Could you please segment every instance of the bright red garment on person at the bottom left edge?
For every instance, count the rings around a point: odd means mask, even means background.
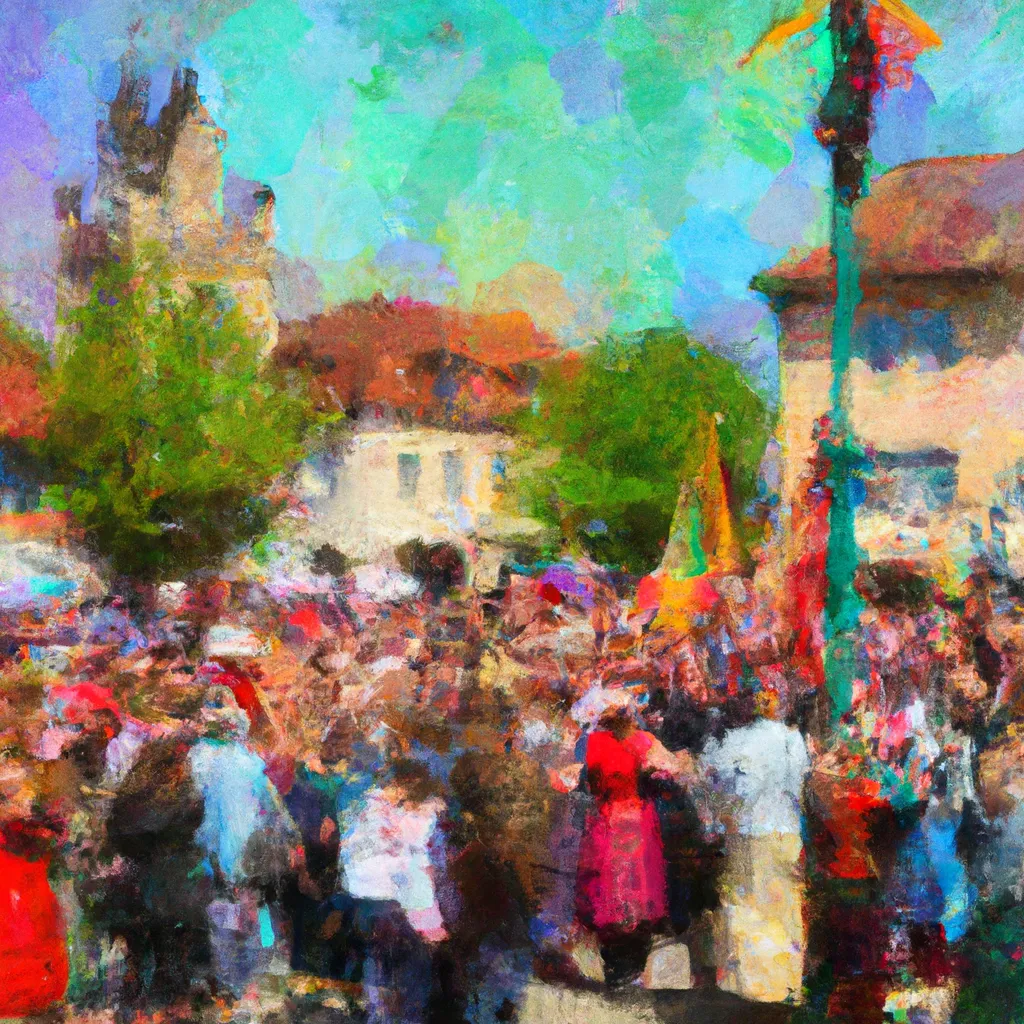
[[[63,997],[68,950],[46,871],[49,830],[0,827],[0,1018],[40,1014]]]

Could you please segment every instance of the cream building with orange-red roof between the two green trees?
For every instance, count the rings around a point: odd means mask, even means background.
[[[283,325],[274,357],[312,371],[319,402],[353,427],[301,475],[314,540],[374,558],[417,538],[481,551],[536,539],[539,524],[502,499],[513,447],[502,424],[556,352],[525,313],[379,295]]]

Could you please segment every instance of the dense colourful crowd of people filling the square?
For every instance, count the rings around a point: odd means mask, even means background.
[[[437,564],[8,622],[0,1017],[305,979],[356,1019],[504,1021],[532,979],[827,976],[866,1021],[962,980],[977,900],[1022,886],[1004,583],[862,573],[840,716],[751,581],[684,630],[580,559],[486,593]]]

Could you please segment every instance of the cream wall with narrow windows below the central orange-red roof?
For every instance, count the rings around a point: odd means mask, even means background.
[[[314,514],[311,539],[354,558],[373,558],[414,538],[501,540],[506,531],[536,530],[536,523],[506,518],[500,509],[495,460],[512,443],[499,433],[359,433],[336,466],[309,467],[300,477]],[[418,474],[412,472],[415,460]]]

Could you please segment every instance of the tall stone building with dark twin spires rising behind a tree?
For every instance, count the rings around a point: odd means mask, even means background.
[[[96,127],[96,182],[88,209],[80,185],[54,197],[61,223],[58,308],[88,298],[97,262],[113,251],[156,242],[182,282],[229,288],[269,349],[278,339],[270,283],[273,193],[233,175],[225,179],[226,134],[198,87],[194,70],[177,69],[167,102],[155,121],[147,120],[150,78],[131,52],[125,57],[118,94]],[[58,335],[57,341],[59,349],[68,338]]]

